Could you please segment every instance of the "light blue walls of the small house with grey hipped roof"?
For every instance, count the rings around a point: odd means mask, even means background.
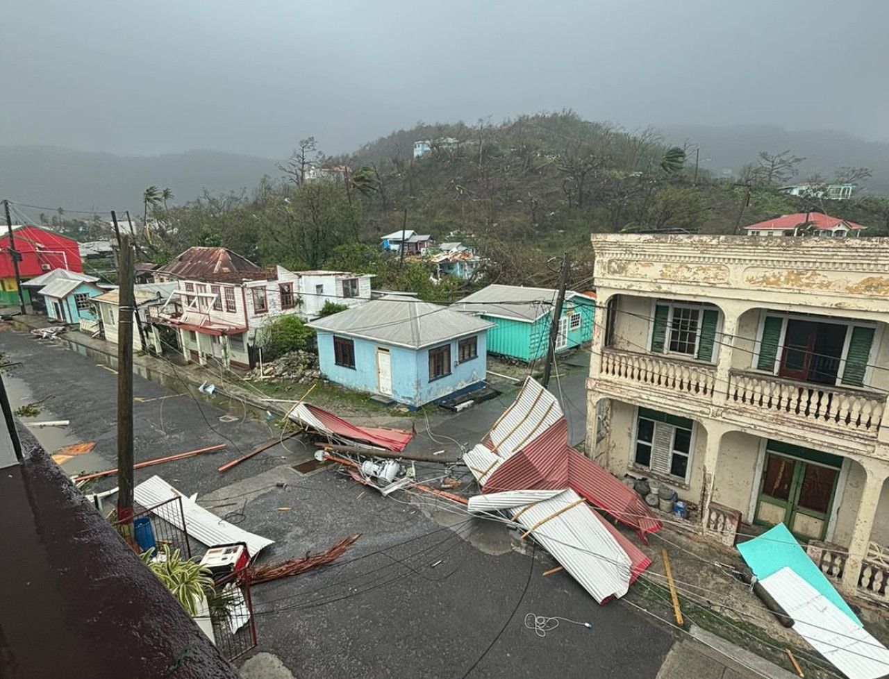
[[[380,393],[377,390],[377,348],[388,349],[392,363],[392,399],[413,407],[444,398],[485,379],[487,353],[484,332],[477,336],[477,358],[465,363],[458,364],[458,339],[453,339],[451,374],[432,381],[429,381],[428,348],[414,350],[352,338],[355,342],[355,368],[352,369],[334,363],[331,332],[318,332],[317,335],[318,364],[324,377],[343,387],[368,394]],[[339,336],[348,337],[345,334]]]

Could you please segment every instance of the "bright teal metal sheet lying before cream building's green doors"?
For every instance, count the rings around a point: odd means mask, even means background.
[[[768,578],[785,566],[789,566],[800,578],[849,616],[858,627],[862,627],[861,620],[855,616],[849,604],[845,603],[843,597],[809,558],[803,547],[799,546],[797,539],[783,523],[765,531],[758,538],[742,542],[738,545],[738,551],[757,579]]]

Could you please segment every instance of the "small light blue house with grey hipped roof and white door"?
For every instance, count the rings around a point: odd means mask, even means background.
[[[308,324],[332,382],[412,408],[481,387],[493,324],[412,297],[386,295]]]

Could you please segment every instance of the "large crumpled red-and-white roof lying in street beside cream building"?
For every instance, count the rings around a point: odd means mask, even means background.
[[[661,523],[635,491],[568,445],[556,397],[525,379],[489,435],[463,456],[482,487],[469,510],[509,512],[598,603],[626,594],[651,559],[586,503],[642,538]]]

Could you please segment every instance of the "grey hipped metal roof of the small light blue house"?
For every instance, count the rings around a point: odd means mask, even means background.
[[[386,295],[308,324],[323,332],[372,339],[399,347],[429,347],[483,332],[493,324],[430,302]]]

